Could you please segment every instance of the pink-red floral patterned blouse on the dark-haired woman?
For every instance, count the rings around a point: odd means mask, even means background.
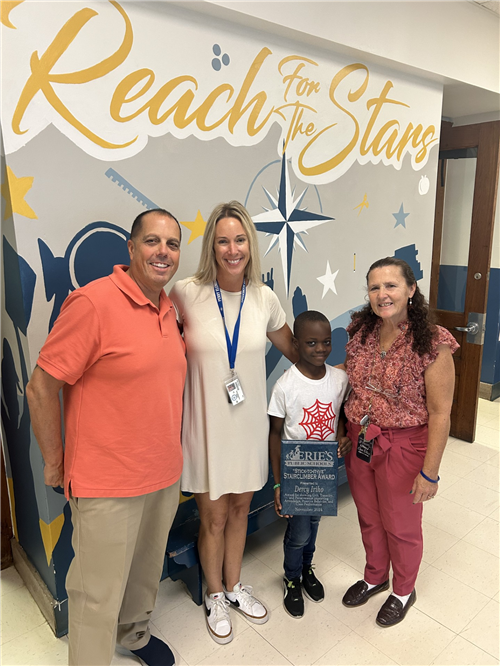
[[[401,335],[382,357],[381,323],[377,322],[365,344],[361,343],[361,330],[347,343],[345,365],[352,391],[345,406],[346,416],[351,423],[360,423],[370,413],[370,422],[381,428],[423,425],[429,417],[424,372],[436,360],[438,345],[448,345],[453,354],[459,344],[449,331],[436,326],[432,350],[419,356],[412,350],[412,336],[405,334],[408,322],[404,321],[399,324]]]

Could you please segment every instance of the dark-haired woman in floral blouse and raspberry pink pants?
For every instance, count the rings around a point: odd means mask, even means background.
[[[364,579],[342,603],[361,606],[389,588],[377,624],[401,622],[416,600],[422,559],[422,505],[436,496],[450,429],[455,338],[429,322],[405,261],[387,257],[367,275],[369,303],[352,315],[345,406],[353,443],[346,457],[366,551]]]

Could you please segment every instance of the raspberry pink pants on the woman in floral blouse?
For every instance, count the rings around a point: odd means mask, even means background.
[[[422,504],[413,504],[410,491],[422,469],[427,426],[382,430],[370,426],[374,434],[380,431],[370,463],[356,456],[360,429],[347,424],[352,451],[345,465],[366,551],[364,579],[371,585],[383,583],[392,564],[393,591],[403,596],[415,587],[422,560]]]

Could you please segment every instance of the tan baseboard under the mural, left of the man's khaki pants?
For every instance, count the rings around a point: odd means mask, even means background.
[[[35,603],[54,634],[58,638],[64,636],[68,631],[67,601],[60,604],[54,599],[49,588],[45,585],[40,574],[31,564],[28,556],[16,539],[11,540],[11,545],[14,566],[23,579],[29,593],[35,600]]]

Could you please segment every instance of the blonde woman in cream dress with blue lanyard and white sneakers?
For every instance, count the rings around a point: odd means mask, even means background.
[[[188,359],[181,487],[194,493],[200,512],[207,629],[224,644],[233,638],[230,606],[251,622],[268,620],[240,581],[250,502],[269,470],[267,340],[297,360],[283,308],[261,281],[255,226],[239,202],[212,211],[198,271],[177,282],[170,298]]]

